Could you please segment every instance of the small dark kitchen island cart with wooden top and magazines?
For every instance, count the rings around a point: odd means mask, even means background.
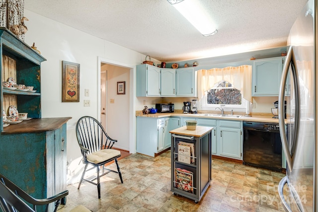
[[[198,203],[212,180],[211,127],[171,133],[171,191]]]

